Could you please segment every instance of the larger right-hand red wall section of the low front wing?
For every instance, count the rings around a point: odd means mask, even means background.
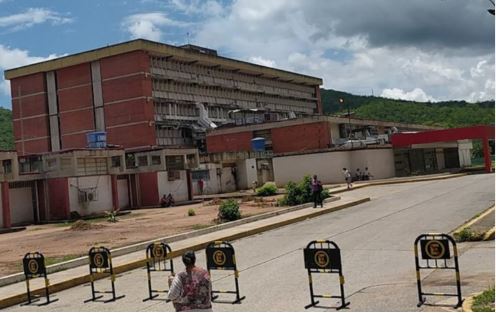
[[[274,153],[325,149],[331,140],[327,122],[273,128],[271,134]]]

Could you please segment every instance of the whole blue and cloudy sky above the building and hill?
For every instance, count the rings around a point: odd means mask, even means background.
[[[135,38],[416,101],[495,98],[487,0],[0,0],[0,72]],[[0,106],[10,108],[0,77]]]

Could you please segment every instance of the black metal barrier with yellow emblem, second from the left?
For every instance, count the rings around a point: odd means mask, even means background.
[[[88,252],[88,257],[90,261],[90,283],[91,283],[91,299],[85,300],[84,303],[89,301],[96,301],[103,297],[96,296],[96,294],[105,294],[111,293],[112,298],[103,301],[104,303],[112,302],[121,298],[124,298],[125,295],[116,297],[115,295],[115,274],[114,268],[112,267],[112,256],[110,254],[110,250],[105,247],[93,247]],[[96,291],[95,290],[95,275],[98,273],[110,274],[110,282],[112,290],[109,291]]]

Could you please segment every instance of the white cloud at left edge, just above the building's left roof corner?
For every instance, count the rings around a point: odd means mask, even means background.
[[[15,48],[12,49],[0,44],[0,70],[3,72],[3,70],[42,62],[61,56],[63,55],[50,54],[47,57],[30,56],[29,51]],[[0,77],[0,92],[10,96],[10,82],[4,80],[3,75]]]

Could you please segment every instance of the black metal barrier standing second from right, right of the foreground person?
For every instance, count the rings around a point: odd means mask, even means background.
[[[308,270],[308,283],[310,286],[311,301],[310,304],[305,306],[305,309],[319,303],[319,301],[315,301],[315,298],[341,299],[341,305],[336,309],[339,310],[347,307],[350,303],[346,302],[344,295],[344,276],[341,266],[341,251],[338,245],[329,240],[314,240],[311,241],[303,250],[303,255],[305,257],[305,268]],[[325,294],[314,294],[312,273],[339,274],[339,288],[341,295],[332,296]]]

